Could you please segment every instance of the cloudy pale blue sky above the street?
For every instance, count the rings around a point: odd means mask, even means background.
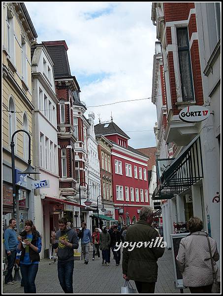
[[[81,101],[97,106],[151,98],[156,27],[152,2],[24,2],[37,42],[65,40]],[[98,123],[111,119],[133,148],[156,146],[156,107],[149,100],[89,107]]]

